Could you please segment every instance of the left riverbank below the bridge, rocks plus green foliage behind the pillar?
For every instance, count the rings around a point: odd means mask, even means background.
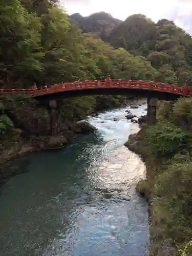
[[[45,103],[23,96],[1,99],[0,165],[28,152],[61,148],[72,143],[77,134],[94,132],[92,125],[79,120],[98,112],[101,100],[101,96],[62,100],[58,135],[50,136],[50,113]],[[103,108],[115,108],[126,102],[122,97],[109,97]]]

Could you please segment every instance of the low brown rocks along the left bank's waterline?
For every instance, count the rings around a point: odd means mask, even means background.
[[[76,122],[73,125],[72,131],[65,131],[57,136],[28,136],[27,138],[18,136],[14,140],[6,138],[6,145],[1,148],[0,155],[0,187],[10,177],[17,175],[17,168],[6,168],[15,158],[24,156],[28,153],[59,150],[73,142],[78,134],[91,134],[96,131],[96,128],[86,121]],[[16,131],[19,134],[22,131]],[[10,171],[7,172],[7,169]],[[25,171],[24,171],[25,172]]]

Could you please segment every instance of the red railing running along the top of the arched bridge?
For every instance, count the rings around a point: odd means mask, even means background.
[[[148,91],[157,91],[165,93],[173,93],[183,96],[192,95],[192,88],[185,86],[176,86],[175,84],[167,84],[154,81],[141,81],[141,80],[111,80],[107,78],[105,80],[85,80],[75,82],[64,82],[54,84],[53,86],[45,86],[37,89],[12,89],[12,90],[0,90],[0,95],[14,95],[25,94],[29,96],[42,96],[46,94],[54,94],[58,92],[77,91],[77,90],[89,90],[98,88],[126,88],[126,89],[140,89]]]

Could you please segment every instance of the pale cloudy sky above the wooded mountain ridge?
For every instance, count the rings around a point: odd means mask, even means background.
[[[145,14],[154,22],[167,18],[192,34],[192,0],[61,0],[61,4],[69,14],[82,16],[104,11],[121,20],[136,13]]]

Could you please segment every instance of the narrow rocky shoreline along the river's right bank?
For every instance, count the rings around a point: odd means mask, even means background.
[[[156,159],[151,158],[150,153],[147,151],[147,145],[143,140],[143,134],[146,126],[146,116],[142,116],[138,119],[140,130],[138,133],[131,134],[129,139],[124,143],[124,145],[129,148],[130,151],[139,155],[146,166],[146,179],[141,180],[137,186],[136,190],[138,191],[141,197],[144,197],[148,203],[148,222],[150,224],[150,251],[148,256],[174,256],[175,249],[169,244],[166,240],[159,240],[157,233],[163,233],[162,228],[159,226],[156,221],[155,211],[153,209],[153,202],[157,200],[153,196],[152,188],[148,185],[149,181],[153,177],[153,168],[155,166]],[[153,232],[153,234],[152,234]]]

